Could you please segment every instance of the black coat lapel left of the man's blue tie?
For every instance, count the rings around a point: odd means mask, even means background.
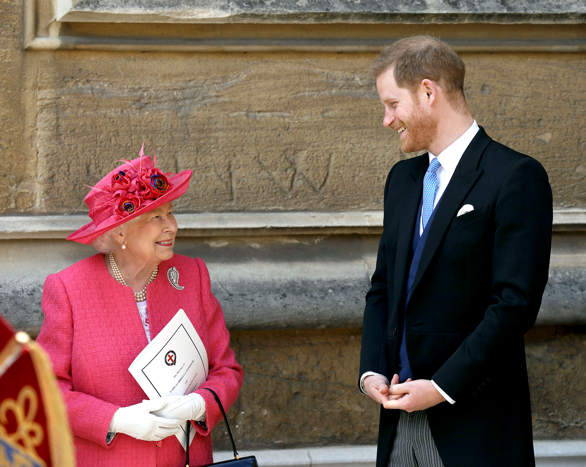
[[[398,234],[397,234],[397,255],[395,257],[394,271],[394,303],[399,307],[401,303],[401,294],[403,293],[403,284],[408,271],[409,252],[411,242],[413,242],[413,232],[415,228],[415,219],[421,195],[423,194],[423,178],[425,170],[429,165],[427,153],[421,157],[421,163],[417,164],[407,177],[406,188],[403,199],[400,202]]]

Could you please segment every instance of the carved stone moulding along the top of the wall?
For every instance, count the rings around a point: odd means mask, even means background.
[[[339,2],[338,0],[276,0],[252,2],[237,0],[23,0],[24,31],[23,48],[26,50],[108,50],[108,51],[183,51],[183,52],[242,52],[242,51],[297,51],[297,52],[370,52],[378,53],[396,37],[369,39],[367,37],[338,37],[319,39],[299,36],[283,39],[280,34],[242,39],[222,33],[221,39],[200,37],[198,33],[176,36],[169,32],[158,38],[103,35],[101,25],[118,24],[121,28],[132,23],[174,25],[201,23],[216,25],[280,26],[302,25],[553,25],[572,26],[586,23],[586,6],[573,0],[503,0],[485,2],[419,2],[408,0],[366,0],[361,2]],[[91,25],[83,34],[76,35],[68,25],[86,23]],[[60,26],[63,25],[63,28]],[[145,26],[147,27],[147,26]],[[94,29],[92,29],[94,28]],[[148,27],[147,27],[148,28]],[[59,32],[61,31],[61,32]],[[69,31],[69,32],[67,32]],[[411,34],[411,33],[409,33]],[[400,37],[401,35],[399,35]],[[443,37],[443,36],[442,36]],[[583,52],[586,40],[581,35],[555,36],[546,39],[515,34],[497,37],[489,34],[483,39],[472,35],[465,39],[444,37],[458,52]]]

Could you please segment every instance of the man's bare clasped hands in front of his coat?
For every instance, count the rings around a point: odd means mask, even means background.
[[[369,375],[363,380],[364,390],[384,408],[400,408],[407,412],[425,410],[443,401],[444,396],[427,379],[399,383],[399,375],[389,381],[384,376]]]

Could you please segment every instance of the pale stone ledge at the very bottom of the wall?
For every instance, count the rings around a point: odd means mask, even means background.
[[[584,465],[586,441],[533,441],[536,467]],[[239,451],[240,457],[254,455],[259,467],[374,467],[376,446]],[[231,451],[214,452],[214,462],[233,459]]]

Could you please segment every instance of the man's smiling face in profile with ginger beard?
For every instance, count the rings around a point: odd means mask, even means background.
[[[437,134],[437,120],[420,101],[418,91],[413,94],[398,87],[393,68],[379,75],[376,88],[384,104],[383,126],[398,132],[401,150],[410,153],[428,149]],[[425,97],[425,93],[422,94]]]

